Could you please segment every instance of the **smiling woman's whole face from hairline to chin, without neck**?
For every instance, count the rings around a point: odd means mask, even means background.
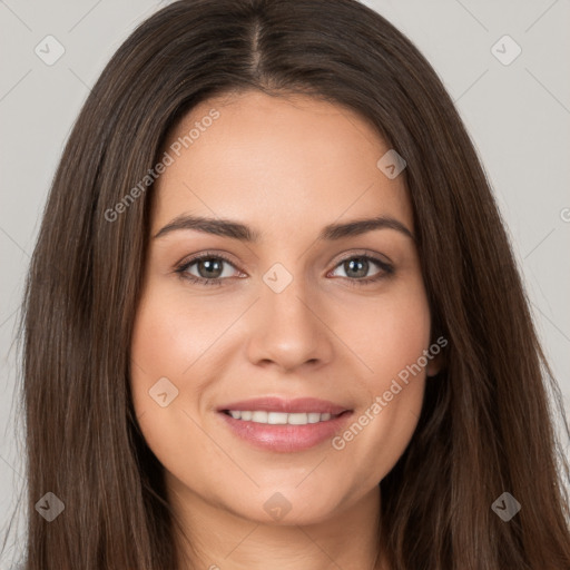
[[[323,521],[404,452],[438,360],[416,372],[430,312],[389,150],[344,107],[254,91],[171,135],[130,381],[181,504]],[[395,223],[350,225],[373,218]]]

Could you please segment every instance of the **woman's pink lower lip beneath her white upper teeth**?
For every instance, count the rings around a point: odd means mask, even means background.
[[[346,411],[326,422],[307,423],[306,425],[272,425],[235,420],[224,412],[218,413],[238,438],[256,448],[281,453],[308,450],[318,445],[340,432],[352,415],[352,411]]]

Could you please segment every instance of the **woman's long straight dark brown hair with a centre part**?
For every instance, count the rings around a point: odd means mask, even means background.
[[[568,422],[490,184],[430,63],[354,0],[180,0],[140,24],[95,85],[26,288],[24,568],[178,568],[161,465],[128,389],[151,185],[116,205],[189,109],[248,89],[354,109],[407,164],[434,331],[449,344],[380,483],[392,568],[570,568],[570,470],[553,428],[556,414],[567,433]],[[65,503],[51,522],[35,508],[47,492]],[[521,505],[508,522],[492,509],[503,492]]]

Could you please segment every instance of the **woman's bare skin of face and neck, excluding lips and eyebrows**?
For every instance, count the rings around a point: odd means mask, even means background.
[[[213,570],[262,569],[268,561],[273,570],[387,568],[383,556],[374,566],[379,482],[411,440],[439,358],[343,450],[330,440],[301,452],[259,450],[237,439],[216,407],[261,395],[313,396],[353,410],[355,420],[429,348],[431,316],[412,238],[382,228],[317,239],[327,224],[380,215],[413,233],[403,175],[389,179],[376,167],[389,147],[363,118],[306,96],[209,99],[184,118],[167,147],[213,108],[219,118],[183,148],[153,190],[131,344],[140,429],[196,548],[177,534],[180,560]],[[236,219],[262,239],[195,229],[153,237],[183,214]],[[374,262],[362,274],[342,263],[362,249],[395,273],[351,286],[384,273]],[[220,286],[176,273],[206,250],[232,261],[219,261]],[[293,276],[281,293],[263,281],[275,263]],[[209,276],[200,263],[186,272]],[[178,390],[165,407],[148,393],[160,377]],[[281,520],[264,509],[276,492],[291,507]]]

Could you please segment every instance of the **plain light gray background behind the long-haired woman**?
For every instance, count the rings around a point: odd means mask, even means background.
[[[14,325],[49,185],[90,86],[134,28],[166,3],[0,1],[0,535],[23,484]],[[570,1],[365,3],[420,48],[455,100],[507,220],[570,413]],[[48,50],[48,35],[65,48],[51,66],[35,52]],[[504,35],[522,49],[510,65],[491,51]],[[498,49],[513,53],[509,45]],[[6,558],[0,567],[9,567]]]

